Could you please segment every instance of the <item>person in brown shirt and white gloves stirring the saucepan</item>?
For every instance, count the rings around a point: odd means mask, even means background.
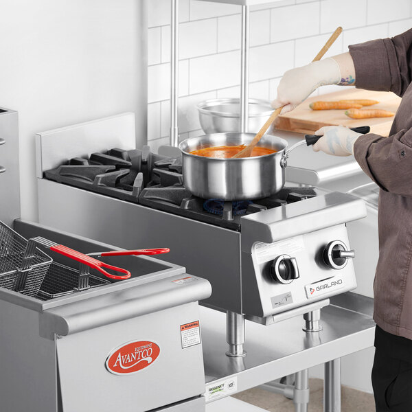
[[[376,411],[412,411],[412,29],[286,71],[273,108],[286,105],[282,113],[287,113],[324,84],[353,84],[402,97],[389,137],[323,127],[313,150],[354,155],[380,187],[372,385]]]

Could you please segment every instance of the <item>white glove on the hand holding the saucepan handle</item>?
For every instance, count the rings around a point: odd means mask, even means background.
[[[353,155],[355,141],[361,136],[345,126],[325,126],[314,134],[322,137],[313,145],[313,151],[334,156]]]

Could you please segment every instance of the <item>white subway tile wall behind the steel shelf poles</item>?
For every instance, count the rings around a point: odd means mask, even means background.
[[[148,143],[170,133],[170,0],[148,2]],[[179,139],[201,135],[196,104],[240,96],[238,5],[179,1]],[[306,65],[336,27],[325,56],[412,27],[412,0],[282,0],[255,5],[250,16],[249,97],[273,100],[284,71]],[[339,87],[323,87],[314,94]]]

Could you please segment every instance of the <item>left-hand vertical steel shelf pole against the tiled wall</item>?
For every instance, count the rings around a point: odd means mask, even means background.
[[[170,47],[170,146],[178,146],[177,126],[179,99],[179,0],[172,1],[171,47]]]

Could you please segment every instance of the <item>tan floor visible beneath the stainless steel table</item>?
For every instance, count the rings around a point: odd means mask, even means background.
[[[308,412],[323,412],[323,380],[310,379],[309,387],[310,403]],[[248,402],[269,412],[295,412],[293,400],[263,389],[249,389],[249,391],[236,394],[233,398]],[[356,389],[342,387],[341,412],[355,411],[375,412],[374,396]]]

